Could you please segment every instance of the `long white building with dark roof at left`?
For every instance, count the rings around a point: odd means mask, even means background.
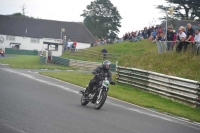
[[[63,30],[64,29],[64,30]],[[33,19],[0,15],[0,47],[45,51],[43,38],[77,41],[77,49],[84,49],[95,42],[94,36],[82,23]],[[62,45],[52,47],[52,55],[62,55]]]

